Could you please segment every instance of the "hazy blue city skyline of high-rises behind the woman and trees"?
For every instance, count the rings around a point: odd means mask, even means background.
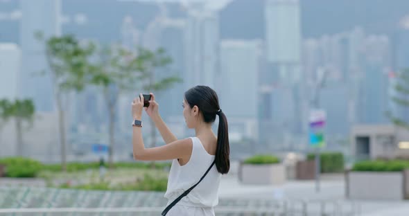
[[[15,22],[22,29],[20,39],[11,43],[3,41],[0,33],[0,44],[12,47],[10,51],[1,49],[0,45],[1,53],[8,52],[1,55],[6,58],[3,61],[17,62],[10,63],[10,70],[19,73],[10,77],[1,70],[1,78],[14,79],[17,83],[16,91],[2,91],[2,96],[33,98],[40,114],[52,114],[54,105],[49,78],[30,76],[47,68],[44,48],[34,33],[31,34],[35,30],[42,30],[46,37],[74,33],[80,40],[121,43],[130,50],[134,46],[164,48],[173,62],[166,69],[155,71],[155,77],[177,75],[183,82],[166,93],[158,93],[157,100],[166,105],[161,114],[177,128],[180,136],[190,133],[184,127],[180,108],[183,93],[197,84],[208,85],[218,92],[222,109],[231,119],[232,140],[257,141],[261,149],[304,150],[308,143],[308,114],[317,106],[327,110],[329,120],[325,132],[329,147],[337,147],[337,139],[347,137],[353,125],[390,123],[386,111],[409,120],[408,109],[398,107],[390,100],[396,94],[393,85],[397,83],[391,74],[409,67],[405,61],[409,57],[406,16],[395,21],[394,30],[390,30],[392,35],[354,26],[337,33],[310,37],[303,33],[306,24],[303,12],[307,10],[304,3],[269,0],[264,1],[266,4],[261,8],[263,21],[254,24],[263,26],[264,30],[259,31],[263,35],[251,38],[251,33],[245,35],[246,29],[242,29],[243,38],[228,38],[229,34],[224,30],[225,22],[229,20],[226,17],[236,15],[240,20],[239,10],[232,10],[243,7],[244,1],[225,1],[216,7],[200,1],[107,1],[101,8],[108,5],[143,8],[140,15],[121,8],[121,14],[112,15],[115,19],[101,17],[115,23],[110,26],[115,27],[114,30],[109,32],[96,27],[99,24],[94,17],[98,12],[74,12],[72,7],[77,4],[74,1],[71,6],[67,1],[53,1],[51,5],[46,2],[42,0],[42,4],[31,7],[28,1],[21,1],[17,8],[10,7],[9,12],[0,10],[0,28],[2,25],[10,28],[10,22]],[[259,3],[254,5],[259,6]],[[88,27],[101,31],[91,33]],[[21,54],[10,54],[19,52]],[[320,87],[317,82],[322,76],[325,84]],[[135,91],[139,89],[135,87]],[[241,98],[246,96],[250,97],[249,105],[238,108]],[[98,89],[89,88],[68,97],[71,101],[67,108],[69,142],[77,147],[81,143],[107,142],[103,136],[106,125],[94,124],[107,123],[104,118],[107,110],[103,108]],[[116,106],[117,142],[123,152],[128,151],[126,141],[130,132],[126,124],[130,109],[128,100],[132,98],[132,93],[124,93]],[[87,137],[87,133],[93,134],[92,137]]]

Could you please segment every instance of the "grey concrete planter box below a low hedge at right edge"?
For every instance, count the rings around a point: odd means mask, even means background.
[[[403,172],[346,172],[345,192],[350,199],[409,198],[409,170]]]

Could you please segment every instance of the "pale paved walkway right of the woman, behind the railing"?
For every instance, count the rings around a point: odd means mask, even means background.
[[[408,216],[409,201],[350,201],[345,199],[342,175],[322,177],[321,190],[315,192],[315,181],[288,181],[281,186],[243,185],[233,175],[224,176],[220,183],[220,198],[261,198],[318,200],[354,203],[363,216]],[[345,206],[348,208],[348,206]]]

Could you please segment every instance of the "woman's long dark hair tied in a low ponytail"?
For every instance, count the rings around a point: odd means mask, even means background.
[[[191,108],[198,106],[205,123],[214,123],[219,116],[216,148],[216,168],[221,174],[230,169],[229,128],[227,118],[220,109],[216,91],[210,87],[196,86],[184,93],[184,98]]]

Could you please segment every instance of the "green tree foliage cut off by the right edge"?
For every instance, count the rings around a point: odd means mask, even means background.
[[[392,96],[392,101],[402,107],[409,107],[409,69],[405,69],[401,71],[401,73],[398,73],[397,78],[399,78],[399,81],[394,86],[397,95]],[[392,120],[394,125],[409,129],[409,123],[405,120],[394,116],[391,111],[388,111],[386,114],[388,118]]]

